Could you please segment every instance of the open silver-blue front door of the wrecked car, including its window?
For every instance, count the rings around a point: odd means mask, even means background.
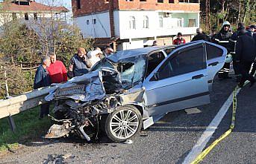
[[[143,82],[149,116],[210,103],[205,43],[173,50]]]

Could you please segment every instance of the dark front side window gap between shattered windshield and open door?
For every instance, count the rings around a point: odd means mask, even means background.
[[[165,58],[165,56],[163,55],[162,52],[152,53],[148,57],[149,62],[148,62],[146,76],[149,76],[149,74],[152,73],[154,68],[157,68],[157,65],[159,65],[160,62],[162,62],[164,58]]]

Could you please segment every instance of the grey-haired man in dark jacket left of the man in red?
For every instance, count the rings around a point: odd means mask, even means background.
[[[42,64],[37,68],[35,77],[34,77],[34,89],[42,88],[49,86],[51,84],[51,79],[47,67],[50,65],[49,56],[44,56],[42,59]],[[40,119],[43,119],[43,116],[47,116],[49,114],[50,104],[46,103],[41,105],[40,107]]]

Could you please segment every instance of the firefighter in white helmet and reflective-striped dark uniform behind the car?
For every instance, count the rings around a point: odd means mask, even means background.
[[[225,43],[222,44],[222,41],[229,42],[229,39],[231,38],[232,33],[230,32],[231,24],[228,21],[223,22],[222,29],[219,31],[219,33],[216,33],[213,36],[213,40],[216,44],[222,45],[223,47],[227,48],[228,53],[231,51],[230,45]],[[222,69],[219,70],[218,77],[219,79],[231,79],[230,76],[228,76],[230,69],[230,62],[225,62]]]

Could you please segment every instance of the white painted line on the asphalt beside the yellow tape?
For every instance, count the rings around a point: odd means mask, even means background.
[[[237,94],[239,92],[240,92],[240,88],[237,89]],[[184,164],[192,163],[193,160],[195,160],[196,157],[199,156],[199,154],[201,154],[201,152],[205,148],[205,145],[210,140],[210,137],[213,136],[213,133],[215,132],[216,128],[218,128],[219,123],[222,121],[223,117],[227,113],[228,108],[231,106],[232,102],[233,102],[233,92],[231,93],[230,96],[228,96],[228,99],[222,105],[222,108],[220,108],[218,114],[216,114],[214,119],[210,122],[210,125],[207,126],[202,136],[196,142],[196,145],[194,145],[194,147],[190,151],[190,154],[187,155],[187,157],[183,162]]]

